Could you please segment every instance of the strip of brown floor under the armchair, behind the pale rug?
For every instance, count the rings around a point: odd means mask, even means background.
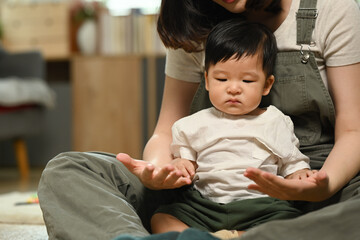
[[[0,167],[0,194],[36,191],[43,168],[31,168],[28,179],[21,179],[17,168]]]

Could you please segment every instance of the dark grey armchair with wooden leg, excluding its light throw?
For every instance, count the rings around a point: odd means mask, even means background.
[[[0,81],[18,77],[22,79],[45,77],[45,63],[37,51],[8,53],[0,46]],[[14,141],[15,156],[22,179],[28,178],[29,163],[25,136],[39,133],[44,107],[29,102],[4,106],[0,103],[0,140]]]

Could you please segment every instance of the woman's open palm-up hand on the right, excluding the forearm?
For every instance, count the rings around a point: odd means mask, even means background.
[[[322,201],[331,196],[329,178],[324,171],[305,179],[284,179],[257,168],[246,169],[244,176],[253,180],[249,189],[282,200]]]

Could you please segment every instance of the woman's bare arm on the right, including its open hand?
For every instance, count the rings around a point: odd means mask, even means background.
[[[281,179],[258,169],[245,176],[250,189],[285,200],[321,201],[331,197],[360,171],[360,63],[328,67],[335,111],[335,145],[319,173],[306,180]]]

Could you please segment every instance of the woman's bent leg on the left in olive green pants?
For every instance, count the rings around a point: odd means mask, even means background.
[[[50,239],[149,235],[136,212],[144,187],[114,155],[56,156],[43,171],[38,194]]]

